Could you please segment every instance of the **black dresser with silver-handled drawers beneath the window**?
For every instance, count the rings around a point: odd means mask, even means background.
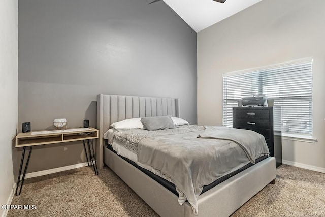
[[[233,128],[252,130],[265,137],[276,167],[282,164],[281,126],[274,127],[273,115],[280,107],[233,107]]]

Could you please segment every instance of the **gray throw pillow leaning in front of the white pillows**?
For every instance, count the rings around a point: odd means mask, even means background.
[[[141,122],[147,130],[164,130],[176,128],[171,116],[142,117]]]

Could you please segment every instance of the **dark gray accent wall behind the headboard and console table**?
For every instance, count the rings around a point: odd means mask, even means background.
[[[180,98],[181,117],[196,123],[196,32],[148,2],[19,1],[19,131],[52,129],[54,118],[95,127],[101,93]],[[85,161],[80,142],[38,146],[27,173]]]

